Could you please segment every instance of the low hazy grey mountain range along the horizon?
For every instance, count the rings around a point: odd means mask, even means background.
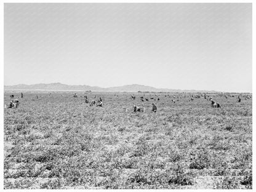
[[[119,86],[119,87],[97,87],[97,86],[86,86],[86,85],[66,85],[57,83],[50,84],[18,84],[15,86],[4,86],[4,90],[81,90],[81,91],[106,91],[106,92],[217,92],[215,90],[181,90],[181,89],[158,89],[151,86],[143,86],[138,84],[132,84],[127,86]]]

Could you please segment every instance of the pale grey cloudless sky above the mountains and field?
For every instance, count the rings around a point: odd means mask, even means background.
[[[4,4],[4,84],[252,92],[252,4]]]

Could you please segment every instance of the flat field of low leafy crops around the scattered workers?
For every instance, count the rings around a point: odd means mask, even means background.
[[[212,108],[188,94],[86,93],[97,107],[76,93],[25,92],[4,109],[4,188],[252,188],[251,98],[211,94]]]

